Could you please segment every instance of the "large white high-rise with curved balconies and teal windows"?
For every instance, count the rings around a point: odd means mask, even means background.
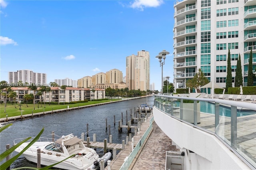
[[[256,67],[256,0],[180,0],[174,10],[175,89],[198,69],[226,87],[228,49],[233,87],[239,54],[246,86],[251,49]]]

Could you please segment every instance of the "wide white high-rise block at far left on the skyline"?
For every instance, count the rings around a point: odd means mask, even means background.
[[[45,73],[34,73],[31,70],[10,71],[8,83],[35,83],[37,86],[46,85],[47,76]]]

